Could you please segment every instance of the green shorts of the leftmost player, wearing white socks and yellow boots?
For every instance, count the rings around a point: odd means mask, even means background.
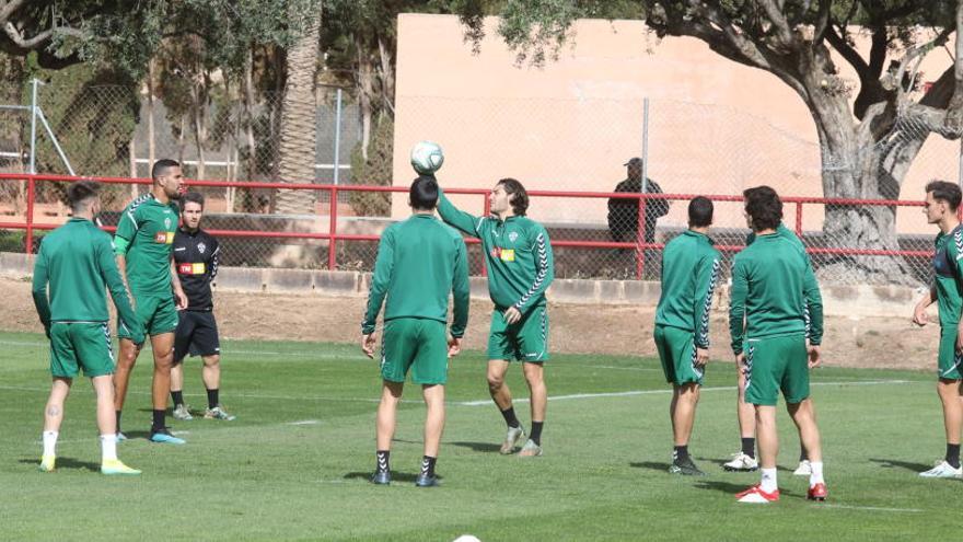
[[[73,378],[80,369],[88,378],[114,373],[114,347],[106,322],[50,324],[50,374]]]

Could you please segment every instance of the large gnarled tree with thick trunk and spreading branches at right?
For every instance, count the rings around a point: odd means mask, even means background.
[[[592,9],[607,16],[610,2],[509,0],[499,34],[530,61],[558,50],[571,24]],[[717,54],[773,73],[805,103],[821,143],[827,197],[895,199],[931,134],[963,132],[963,54],[921,97],[914,97],[916,67],[928,51],[963,28],[963,1],[950,0],[642,0],[613,2],[643,10],[659,36],[701,39]],[[480,21],[466,18],[469,36]],[[851,25],[868,33],[868,54],[856,50]],[[929,31],[920,30],[920,25]],[[960,32],[956,32],[960,35]],[[855,87],[839,76],[833,54],[856,70]],[[855,94],[855,100],[854,99]],[[852,103],[850,105],[850,103]],[[896,209],[828,206],[824,232],[844,246],[898,250]],[[840,257],[838,265],[868,281],[909,281],[905,263],[872,256]]]

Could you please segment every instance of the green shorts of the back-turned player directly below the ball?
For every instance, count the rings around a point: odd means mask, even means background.
[[[411,369],[411,381],[416,384],[443,384],[448,381],[444,322],[398,318],[384,323],[381,377],[390,382],[404,382],[408,369]]]

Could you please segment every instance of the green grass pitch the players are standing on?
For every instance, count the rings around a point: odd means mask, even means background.
[[[374,463],[378,366],[349,345],[229,341],[222,400],[231,423],[173,423],[184,447],[151,445],[151,360],[135,369],[124,415],[137,436],[121,459],[134,478],[96,472],[93,394],[78,379],[67,403],[58,470],[36,471],[46,400],[42,336],[0,334],[0,498],[4,540],[932,540],[955,532],[959,481],[916,473],[943,451],[930,373],[820,369],[815,400],[831,499],[805,500],[791,475],[798,440],[780,412],[782,499],[738,505],[755,473],[726,473],[738,450],[731,364],[711,365],[691,450],[709,476],[666,473],[669,394],[658,361],[556,356],[547,366],[545,455],[497,452],[503,423],[487,403],[480,353],[450,372],[443,486],[411,484],[421,455],[424,407],[409,384],[392,453],[395,483],[368,482]],[[188,403],[205,406],[198,361],[187,366]],[[519,368],[509,383],[526,396]],[[572,394],[639,392],[565,399]],[[465,403],[481,401],[478,406]],[[517,403],[523,424],[525,403]],[[303,424],[293,425],[297,422]],[[788,470],[787,470],[788,469]]]

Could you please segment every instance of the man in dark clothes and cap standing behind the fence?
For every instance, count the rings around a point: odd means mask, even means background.
[[[634,158],[623,164],[626,166],[626,178],[615,186],[615,192],[633,194],[642,193],[642,159]],[[662,194],[662,187],[651,178],[646,180],[646,194]],[[646,203],[646,238],[645,242],[655,242],[655,220],[669,212],[668,199],[649,199]],[[616,243],[634,243],[639,233],[639,200],[635,198],[608,199],[608,233]],[[624,249],[618,250],[619,254]],[[653,260],[651,251],[646,251],[646,267]]]

